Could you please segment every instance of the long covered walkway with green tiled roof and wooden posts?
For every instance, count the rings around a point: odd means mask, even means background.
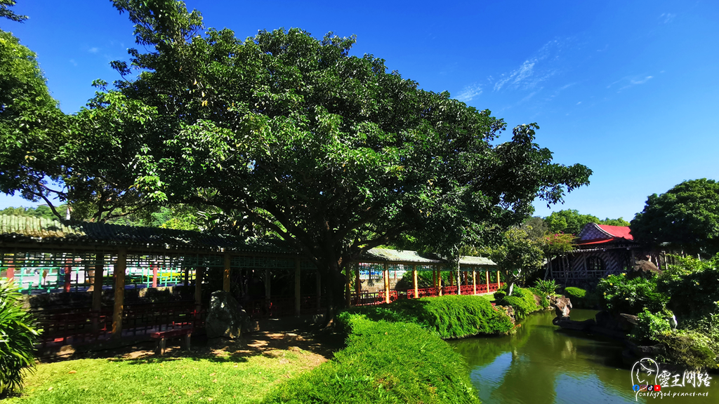
[[[448,271],[436,257],[372,249],[345,274],[347,303],[481,294],[501,285],[496,265],[485,258],[462,258],[461,285],[456,272],[443,285]],[[428,272],[432,285],[420,288],[419,274]],[[408,275],[409,287],[396,288]],[[230,291],[253,318],[326,308],[319,271],[300,254],[273,242],[196,231],[0,216],[0,277],[28,295],[45,329],[42,344],[201,328],[203,302],[214,290]]]

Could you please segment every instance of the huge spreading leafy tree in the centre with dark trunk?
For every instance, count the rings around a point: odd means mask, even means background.
[[[316,263],[331,307],[342,269],[372,247],[409,236],[456,251],[518,224],[535,198],[588,183],[587,167],[553,164],[533,142],[536,124],[499,143],[501,119],[350,56],[354,38],[278,29],[242,41],[202,35],[181,2],[114,4],[147,52],[114,63],[123,79],[106,97],[151,118],[134,126],[122,175],[139,198],[215,206],[278,234]]]

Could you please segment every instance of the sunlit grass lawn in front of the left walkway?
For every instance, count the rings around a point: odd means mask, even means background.
[[[276,344],[275,344],[276,345]],[[297,345],[294,343],[293,345]],[[298,346],[150,352],[39,364],[15,403],[259,403],[326,359]]]

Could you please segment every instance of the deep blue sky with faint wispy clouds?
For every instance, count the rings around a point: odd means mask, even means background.
[[[490,109],[508,127],[537,122],[554,161],[594,170],[563,208],[630,220],[651,193],[719,180],[719,3],[715,1],[188,1],[206,27],[300,27],[357,35],[371,53],[430,91]],[[66,113],[118,76],[136,46],[109,1],[19,0],[24,24],[1,20],[37,52]],[[511,132],[505,132],[510,137]],[[0,208],[33,206],[0,195]],[[551,212],[538,202],[536,214]]]

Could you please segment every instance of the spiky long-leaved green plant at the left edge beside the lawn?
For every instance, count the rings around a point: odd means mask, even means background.
[[[0,280],[0,397],[19,390],[24,372],[35,367],[35,318],[22,308],[22,295]]]

